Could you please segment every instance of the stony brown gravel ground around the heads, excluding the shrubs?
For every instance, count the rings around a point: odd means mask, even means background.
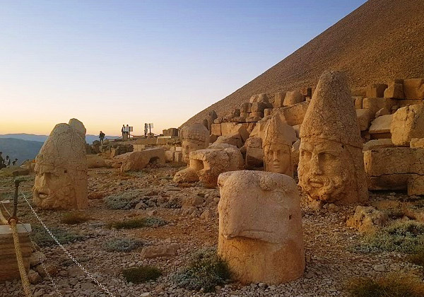
[[[201,293],[179,288],[172,274],[187,263],[193,252],[218,241],[219,202],[218,189],[205,189],[199,184],[177,185],[172,176],[178,167],[166,165],[148,168],[139,173],[120,175],[119,170],[102,168],[89,173],[90,207],[80,211],[90,218],[76,225],[60,223],[64,211],[42,211],[40,218],[50,228],[59,227],[83,236],[83,240],[65,244],[64,247],[88,272],[104,284],[114,296],[348,296],[346,283],[355,276],[383,276],[390,272],[421,274],[420,267],[408,263],[406,255],[394,252],[361,254],[352,251],[363,240],[346,219],[355,206],[331,205],[311,209],[302,198],[303,229],[307,267],[302,278],[289,284],[237,283],[217,287],[215,293]],[[30,195],[33,177],[26,177],[21,189]],[[107,209],[104,197],[111,194],[139,191],[139,202],[131,209]],[[0,178],[0,199],[12,199],[13,178]],[[375,193],[371,201],[404,199],[401,193]],[[18,216],[21,221],[39,226],[25,202],[20,200]],[[160,227],[129,230],[108,228],[110,221],[155,216],[167,221]],[[141,248],[131,252],[108,252],[104,243],[113,238],[135,238],[144,247],[163,245],[177,248],[177,255],[143,259]],[[174,245],[172,245],[174,244]],[[47,257],[45,264],[55,272],[53,280],[62,296],[107,296],[86,274],[73,264],[59,247],[41,248]],[[152,265],[163,270],[163,276],[145,284],[131,284],[122,276],[122,269]],[[57,296],[45,277],[32,285],[34,296]],[[23,296],[20,281],[0,284],[0,296]]]

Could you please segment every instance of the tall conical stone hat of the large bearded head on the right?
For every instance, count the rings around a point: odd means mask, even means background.
[[[363,147],[351,90],[342,72],[325,71],[300,128],[300,138],[316,136]]]

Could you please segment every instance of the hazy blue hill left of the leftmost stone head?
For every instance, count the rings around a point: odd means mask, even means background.
[[[18,158],[18,165],[27,159],[33,159],[37,156],[44,142],[30,141],[16,138],[1,138],[0,151],[2,157],[9,156],[11,160]]]

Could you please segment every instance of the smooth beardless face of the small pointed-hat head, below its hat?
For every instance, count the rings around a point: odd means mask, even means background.
[[[285,144],[271,144],[264,148],[266,171],[293,175],[291,147]]]

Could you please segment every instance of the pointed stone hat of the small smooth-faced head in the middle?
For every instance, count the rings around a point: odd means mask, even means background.
[[[293,127],[283,122],[278,115],[274,115],[266,126],[262,146],[265,147],[270,144],[291,146],[296,139],[296,132]]]

